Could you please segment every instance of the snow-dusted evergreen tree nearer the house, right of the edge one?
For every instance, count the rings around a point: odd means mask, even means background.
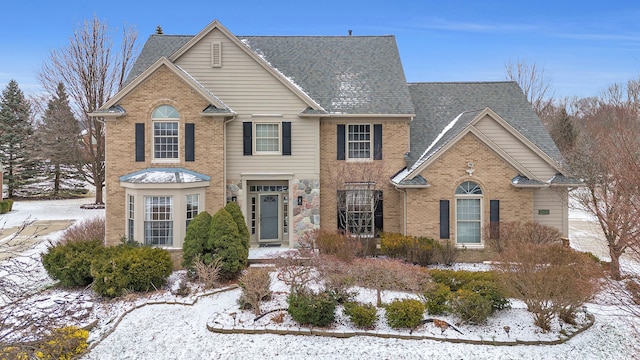
[[[71,111],[64,85],[59,83],[38,128],[41,154],[50,162],[48,170],[53,175],[53,195],[58,195],[65,180],[80,177],[72,166],[82,161],[79,137],[80,124]]]

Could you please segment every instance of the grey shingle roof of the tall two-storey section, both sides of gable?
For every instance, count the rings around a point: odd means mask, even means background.
[[[133,80],[192,36],[151,35]],[[394,36],[238,36],[252,51],[334,114],[413,114]]]

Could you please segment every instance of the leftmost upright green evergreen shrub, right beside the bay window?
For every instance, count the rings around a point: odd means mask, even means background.
[[[213,261],[213,254],[208,245],[210,233],[211,215],[208,212],[199,213],[189,222],[182,243],[182,266],[185,269],[193,270],[193,261],[196,256],[200,256],[205,264]]]

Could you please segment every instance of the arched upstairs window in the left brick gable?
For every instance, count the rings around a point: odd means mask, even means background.
[[[169,105],[161,105],[153,111],[154,159],[178,159],[178,127],[180,114]],[[173,120],[173,121],[172,121]]]

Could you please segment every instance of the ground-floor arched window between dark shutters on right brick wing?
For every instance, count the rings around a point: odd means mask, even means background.
[[[482,189],[473,181],[456,188],[456,238],[459,245],[481,245]]]

